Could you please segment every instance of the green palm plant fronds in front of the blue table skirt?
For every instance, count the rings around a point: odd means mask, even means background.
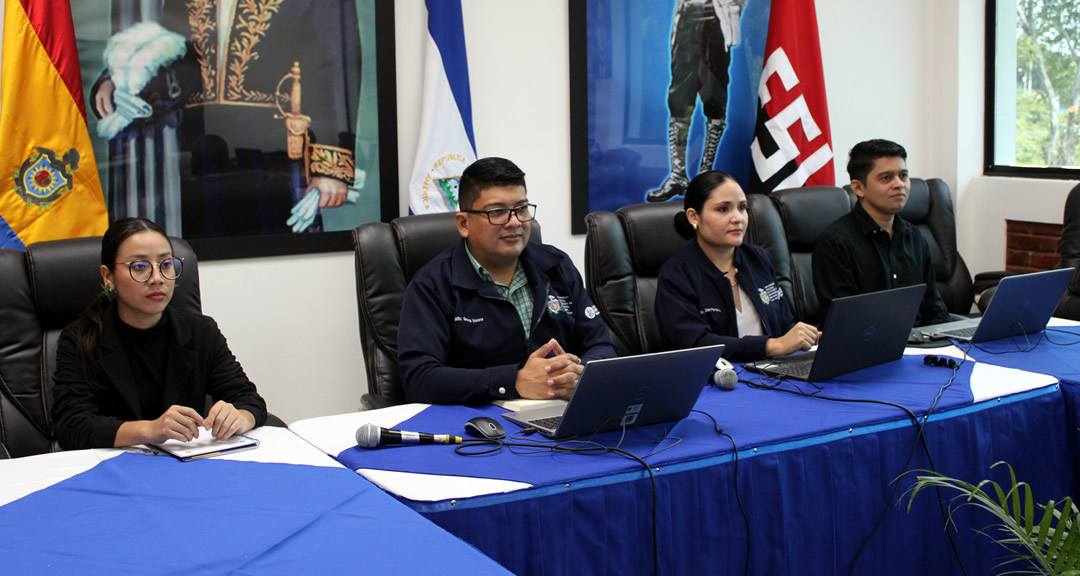
[[[1027,482],[1016,481],[1012,466],[999,461],[990,468],[1000,465],[1009,468],[1009,490],[991,480],[970,484],[939,472],[915,470],[919,475],[907,490],[907,510],[912,510],[915,496],[926,488],[959,492],[949,499],[948,523],[953,523],[953,514],[964,506],[974,506],[993,514],[998,522],[976,532],[1013,552],[998,567],[1024,564],[1023,567],[1015,566],[1021,570],[1003,574],[1080,576],[1080,510],[1072,498],[1036,505],[1031,486]],[[961,499],[963,501],[959,501]],[[1036,508],[1042,509],[1038,521]],[[990,533],[991,528],[994,534]]]

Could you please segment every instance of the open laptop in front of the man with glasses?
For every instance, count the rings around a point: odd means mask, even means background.
[[[593,434],[690,415],[724,345],[593,360],[566,405],[502,416],[550,438]]]

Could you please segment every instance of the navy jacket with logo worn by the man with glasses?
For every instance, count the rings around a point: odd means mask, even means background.
[[[527,242],[518,266],[534,294],[528,341],[514,305],[480,278],[463,240],[413,277],[397,329],[397,369],[409,402],[517,398],[517,371],[551,338],[582,362],[616,356],[569,256]]]

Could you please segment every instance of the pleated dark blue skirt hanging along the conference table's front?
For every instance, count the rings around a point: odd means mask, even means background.
[[[1066,425],[1062,394],[1051,387],[939,413],[926,437],[939,471],[970,481],[1001,480],[1000,470],[991,473],[989,467],[1008,460],[1044,501],[1071,488]],[[740,442],[740,434],[732,434]],[[914,426],[883,424],[757,455],[740,445],[750,573],[847,574],[885,511],[890,482],[904,471],[914,441]],[[735,503],[733,467],[728,460],[661,469],[661,574],[742,574],[747,535]],[[910,467],[928,467],[921,448]],[[472,498],[456,507],[409,505],[515,574],[648,574],[652,495],[648,478],[636,474],[617,483]],[[912,480],[903,480],[901,492]],[[966,509],[957,521],[956,540],[968,573],[993,573],[1001,550],[973,533],[989,519]],[[855,574],[960,574],[933,493],[919,495],[910,512],[906,500],[889,512]]]

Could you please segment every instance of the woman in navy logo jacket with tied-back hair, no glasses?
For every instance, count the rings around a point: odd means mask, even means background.
[[[660,268],[656,313],[670,349],[726,345],[734,362],[808,350],[820,332],[795,322],[769,254],[744,243],[746,195],[730,175],[703,172],[686,190],[675,229],[693,239]]]

